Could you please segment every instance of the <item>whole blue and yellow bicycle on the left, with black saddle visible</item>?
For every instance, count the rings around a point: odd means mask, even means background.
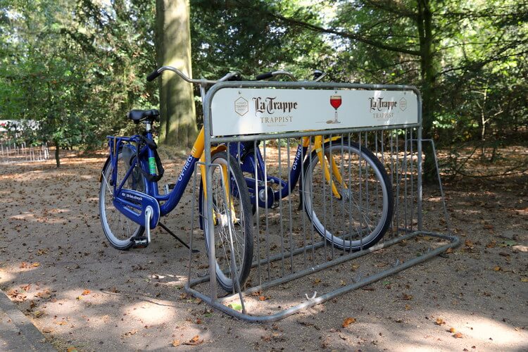
[[[177,73],[187,82],[200,84],[202,97],[205,85],[230,80],[238,75],[230,73],[218,81],[191,80],[180,70],[164,66],[151,73],[147,80],[154,80],[165,70]],[[136,124],[142,123],[144,132],[131,137],[107,137],[110,155],[101,171],[99,190],[103,232],[110,244],[120,250],[148,246],[151,230],[158,225],[172,234],[160,220],[177,206],[196,163],[204,161],[202,128],[172,189],[161,194],[158,181],[163,177],[164,169],[153,141],[153,125],[159,120],[159,113],[157,110],[132,110],[127,118]],[[201,221],[206,250],[210,253],[208,244],[213,237],[216,277],[220,286],[231,292],[237,281],[233,277],[237,277],[243,285],[249,276],[253,260],[253,215],[249,191],[238,161],[227,153],[225,145],[212,146],[211,161],[211,194],[204,191],[206,172],[205,167],[200,166],[199,213],[201,219],[213,218],[213,228],[208,221]],[[207,211],[208,197],[213,202],[212,213]],[[176,237],[175,234],[172,236]]]

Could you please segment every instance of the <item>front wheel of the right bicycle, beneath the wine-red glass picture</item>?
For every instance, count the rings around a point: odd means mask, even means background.
[[[325,165],[315,151],[305,162],[306,214],[337,248],[367,249],[382,239],[394,211],[385,168],[365,146],[346,140],[327,142],[323,151]]]

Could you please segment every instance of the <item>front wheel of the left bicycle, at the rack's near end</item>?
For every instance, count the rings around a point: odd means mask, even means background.
[[[237,159],[225,152],[216,153],[212,163],[211,194],[206,194],[206,185],[201,185],[201,209],[206,250],[209,239],[214,237],[215,272],[218,284],[225,291],[237,289],[237,277],[243,287],[251,270],[253,260],[253,215],[249,192]],[[227,172],[229,170],[229,172]],[[207,197],[213,200],[213,211],[207,210]],[[213,218],[210,228],[208,218]]]

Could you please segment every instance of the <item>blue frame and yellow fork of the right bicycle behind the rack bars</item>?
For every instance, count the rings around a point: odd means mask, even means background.
[[[337,178],[337,182],[339,182],[339,184],[341,184],[344,189],[348,187],[343,182],[343,177],[341,177],[341,172],[339,171],[334,158],[330,158],[328,163],[327,158],[325,158],[325,155],[322,151],[322,146],[325,143],[337,141],[339,139],[341,139],[341,137],[324,139],[322,135],[315,136],[313,150],[317,153],[322,168],[325,170],[325,179],[327,182],[329,182],[329,184],[331,184],[334,196],[336,196],[338,199],[341,199],[341,194],[339,194],[339,191],[337,190],[332,175]],[[246,154],[244,160],[241,160],[240,164],[242,172],[249,172],[253,175],[256,175],[257,177],[257,180],[246,177],[246,184],[249,189],[251,203],[256,204],[258,199],[258,206],[260,208],[271,208],[273,203],[279,199],[289,196],[289,194],[291,194],[291,190],[295,188],[301,176],[301,170],[304,161],[306,161],[306,158],[309,157],[307,155],[309,147],[310,137],[302,137],[301,143],[297,146],[294,161],[291,163],[291,167],[289,168],[288,180],[282,180],[279,177],[268,175],[268,172],[265,170],[265,162],[263,160],[262,154],[260,153],[258,145],[256,148],[253,148],[251,144],[231,144],[230,153],[232,155],[241,156]],[[329,167],[329,164],[332,165],[331,168]],[[268,196],[266,197],[259,194],[260,190],[264,189],[264,184],[279,184],[280,188],[279,190],[273,191],[272,193],[268,191]]]

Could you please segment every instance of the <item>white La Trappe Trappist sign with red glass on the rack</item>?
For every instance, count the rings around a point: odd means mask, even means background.
[[[211,101],[213,136],[417,122],[417,96],[411,90],[223,88]]]

